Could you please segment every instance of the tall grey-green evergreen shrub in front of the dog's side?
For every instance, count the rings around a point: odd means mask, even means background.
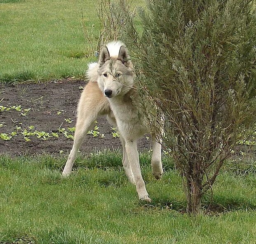
[[[253,2],[148,0],[148,10],[139,12],[142,30],[122,9],[136,105],[155,129],[161,128],[157,114],[165,117],[166,145],[186,177],[188,212],[198,211],[194,198],[212,188],[224,160],[255,124]]]

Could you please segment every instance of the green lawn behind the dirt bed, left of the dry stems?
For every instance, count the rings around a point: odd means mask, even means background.
[[[97,1],[0,0],[0,81],[47,80],[82,76],[90,29],[97,26]],[[97,36],[97,27],[94,35]]]

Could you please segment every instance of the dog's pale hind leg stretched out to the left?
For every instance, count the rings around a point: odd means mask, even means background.
[[[75,135],[74,135],[74,143],[70,154],[68,155],[68,160],[63,169],[62,176],[66,177],[70,175],[76,154],[78,149],[82,143],[83,138],[87,131],[92,127],[94,121],[97,119],[97,114],[88,113],[78,113],[78,121],[75,126]]]

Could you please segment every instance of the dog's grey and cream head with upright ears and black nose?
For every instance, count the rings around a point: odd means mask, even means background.
[[[133,67],[128,51],[119,42],[104,46],[99,56],[99,88],[106,97],[126,94],[133,86]]]

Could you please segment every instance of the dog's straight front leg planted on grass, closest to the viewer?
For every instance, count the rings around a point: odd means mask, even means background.
[[[137,141],[126,141],[125,148],[127,152],[127,157],[132,168],[132,173],[134,175],[134,180],[136,184],[136,190],[139,195],[139,199],[146,200],[151,202],[151,199],[148,196],[148,192],[146,190],[145,182],[141,176],[141,168],[139,164],[139,153],[137,150]]]

